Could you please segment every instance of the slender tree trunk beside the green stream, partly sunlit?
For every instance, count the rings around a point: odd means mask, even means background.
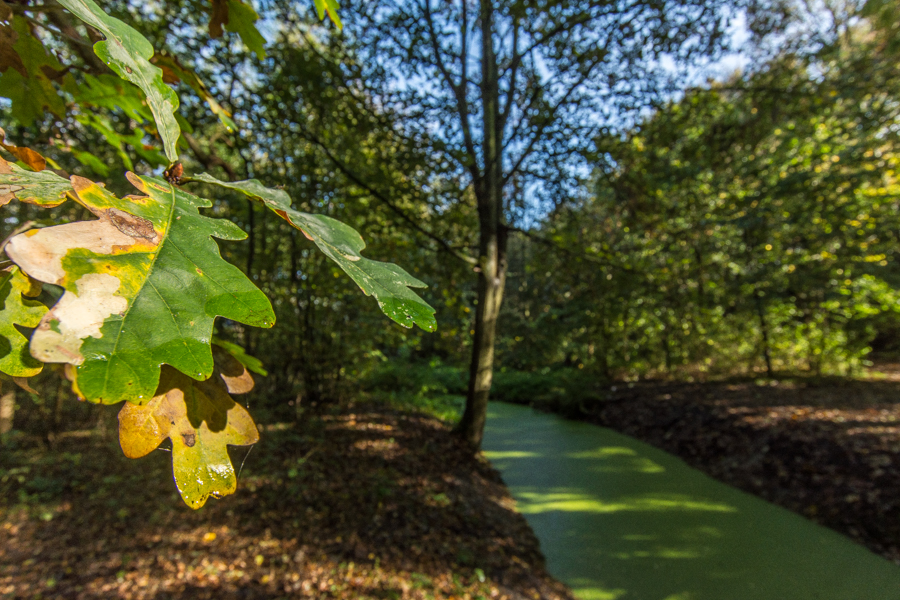
[[[484,175],[475,182],[478,201],[478,306],[469,366],[466,409],[459,424],[463,439],[481,448],[487,401],[494,371],[497,317],[506,285],[506,237],[503,216],[503,156],[500,123],[500,88],[493,47],[492,0],[481,0],[481,96]]]

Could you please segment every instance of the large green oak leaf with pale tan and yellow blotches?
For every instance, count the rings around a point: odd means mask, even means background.
[[[147,195],[117,198],[73,177],[99,220],[29,231],[7,246],[23,271],[65,289],[32,336],[32,355],[75,365],[76,391],[104,404],[149,401],[163,363],[207,379],[217,316],[275,322],[268,298],[213,240],[247,237],[237,225],[200,215],[209,200],[162,179],[127,177]]]

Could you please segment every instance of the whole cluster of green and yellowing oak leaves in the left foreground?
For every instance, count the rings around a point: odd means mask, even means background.
[[[64,162],[71,163],[66,160],[71,155],[107,175],[109,156],[129,170],[137,166],[138,156],[151,167],[168,164],[169,169],[166,179],[127,173],[125,179],[140,195],[123,197],[104,184],[79,176],[67,179],[59,174],[56,160],[0,140],[0,146],[20,161],[10,164],[0,159],[0,205],[13,199],[33,205],[11,204],[17,217],[38,208],[60,207],[42,224],[52,226],[28,230],[36,223],[24,221],[21,230],[27,231],[16,232],[6,245],[17,266],[0,279],[4,299],[0,346],[6,346],[0,370],[23,377],[39,373],[42,363],[65,363],[72,388],[83,399],[103,404],[127,401],[119,416],[125,454],[144,456],[163,440],[171,440],[176,484],[185,502],[199,508],[210,496],[235,490],[227,446],[252,444],[258,432],[250,414],[230,394],[253,387],[248,370],[266,373],[243,348],[214,336],[215,320],[224,317],[223,328],[235,335],[240,325],[271,327],[275,312],[251,279],[226,260],[231,252],[220,250],[213,239],[243,240],[248,235],[228,219],[201,214],[200,209],[222,212],[220,203],[179,187],[184,166],[169,163],[177,158],[181,133],[193,128],[176,115],[179,98],[169,84],[181,81],[196,94],[189,96],[187,108],[199,101],[228,130],[237,125],[197,72],[176,56],[155,53],[147,38],[92,0],[61,4],[105,36],[94,44],[101,60],[82,52],[79,30],[58,25],[68,37],[50,40],[35,35],[26,18],[0,5],[3,89],[16,78],[25,79],[31,96],[8,92],[12,125],[24,126],[27,132],[39,125],[42,109],[47,108],[62,123],[53,124],[61,133],[45,145]],[[326,8],[339,24],[336,6],[328,3]],[[249,4],[213,2],[213,9],[213,37],[224,26],[238,33],[258,58],[265,56],[265,40],[254,24],[258,15]],[[42,16],[35,23],[53,19],[38,13]],[[67,23],[66,14],[61,18]],[[64,67],[57,56],[70,65]],[[73,65],[77,68],[70,69]],[[107,66],[125,81],[104,73]],[[136,126],[145,123],[150,125],[146,130]],[[151,134],[159,136],[168,161],[146,143]],[[81,149],[72,140],[76,135],[100,136],[108,146]],[[187,142],[202,154],[193,138]],[[48,164],[55,170],[47,169]],[[220,159],[219,164],[226,163]],[[396,265],[362,258],[362,238],[349,226],[294,211],[289,199],[281,203],[274,190],[250,183],[263,190],[260,200],[314,239],[367,295],[375,295],[391,318],[406,326],[435,328],[434,310],[408,289],[423,287],[422,282]],[[115,186],[120,184],[124,182]],[[77,206],[61,206],[66,199]],[[96,220],[83,220],[84,209]],[[288,239],[293,242],[293,234]],[[33,299],[39,295],[41,302]],[[30,341],[17,326],[35,327]],[[246,341],[249,336],[237,337]],[[42,413],[58,419],[58,401],[55,410],[45,410],[43,400],[38,405]]]

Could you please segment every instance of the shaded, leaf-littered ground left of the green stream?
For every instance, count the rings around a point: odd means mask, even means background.
[[[4,448],[0,598],[572,600],[446,424],[371,406],[302,423],[232,448],[237,493],[198,511],[165,451],[132,461],[88,432]]]

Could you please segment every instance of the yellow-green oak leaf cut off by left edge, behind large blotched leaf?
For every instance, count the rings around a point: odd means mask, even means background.
[[[34,377],[43,367],[28,353],[28,338],[14,326],[41,322],[47,307],[34,299],[40,293],[41,284],[18,267],[0,271],[0,372],[11,377]]]

